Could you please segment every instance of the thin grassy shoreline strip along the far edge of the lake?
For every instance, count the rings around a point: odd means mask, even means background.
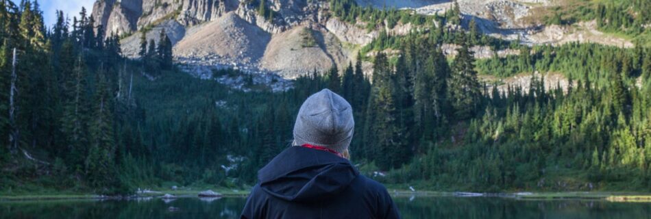
[[[175,198],[199,198],[199,192],[204,190],[156,190],[141,192],[130,196],[103,196],[96,194],[24,194],[7,196],[0,194],[0,201],[39,201],[39,200],[136,200],[138,198],[160,198],[165,194]],[[245,198],[249,190],[215,190],[224,198]],[[644,192],[436,192],[389,190],[395,197],[496,197],[515,198],[522,200],[600,200],[612,202],[651,202],[651,194]]]

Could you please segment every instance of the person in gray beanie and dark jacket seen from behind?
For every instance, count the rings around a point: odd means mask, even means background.
[[[389,192],[348,160],[352,108],[325,89],[303,103],[293,146],[258,171],[241,218],[400,218]]]

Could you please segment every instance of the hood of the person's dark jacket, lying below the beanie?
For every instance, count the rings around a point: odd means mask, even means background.
[[[260,188],[285,201],[323,201],[345,190],[359,175],[347,159],[292,146],[258,171]]]

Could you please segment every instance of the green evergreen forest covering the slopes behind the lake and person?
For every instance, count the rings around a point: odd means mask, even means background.
[[[142,58],[129,59],[119,36],[86,10],[72,19],[58,12],[48,26],[37,1],[0,0],[0,192],[247,189],[290,146],[300,105],[323,88],[353,107],[352,162],[390,188],[651,191],[648,42],[528,46],[481,34],[458,8],[421,16],[354,2],[330,1],[332,14],[369,28],[385,20],[431,28],[383,32],[356,62],[315,69],[289,90],[243,92],[175,66],[164,32],[149,42],[143,35]],[[604,31],[647,36],[637,27],[650,16],[622,8],[595,4],[580,16],[559,9],[560,21],[550,22],[596,19]],[[443,28],[461,23],[468,28]],[[456,56],[443,53],[444,43],[458,44]],[[476,60],[477,45],[519,53]],[[568,85],[535,73],[561,74]],[[531,79],[499,89],[486,75]]]

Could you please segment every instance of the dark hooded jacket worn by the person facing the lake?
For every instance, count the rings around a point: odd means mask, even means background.
[[[258,181],[241,218],[400,218],[384,186],[326,151],[290,147]]]

